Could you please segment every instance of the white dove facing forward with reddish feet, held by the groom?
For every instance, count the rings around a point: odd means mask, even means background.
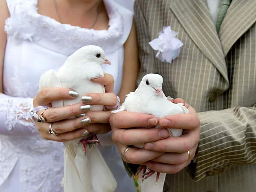
[[[119,109],[112,111],[112,113],[117,113],[119,111],[147,113],[156,116],[158,119],[168,115],[189,113],[183,103],[175,104],[167,99],[163,93],[162,84],[162,76],[153,73],[145,75],[138,88],[134,92],[129,93],[122,106],[120,106]],[[160,125],[158,124],[156,128],[160,128]],[[180,137],[183,132],[182,129],[168,128],[168,130],[170,137]],[[134,146],[137,148],[143,148],[143,144]],[[146,172],[146,166],[140,166],[135,176],[139,175],[141,171],[142,181],[155,173],[150,169]],[[164,182],[165,175],[166,174],[163,175],[162,184]],[[159,176],[160,173],[157,173],[156,183],[158,182]],[[151,187],[150,190],[153,191],[153,188]]]

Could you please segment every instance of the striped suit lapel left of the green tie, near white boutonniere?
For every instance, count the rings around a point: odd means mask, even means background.
[[[170,8],[192,41],[228,82],[221,42],[206,0],[172,0]]]

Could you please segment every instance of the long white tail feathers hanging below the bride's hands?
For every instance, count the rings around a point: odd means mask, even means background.
[[[117,183],[99,149],[88,148],[84,155],[80,139],[64,142],[64,192],[113,192]]]

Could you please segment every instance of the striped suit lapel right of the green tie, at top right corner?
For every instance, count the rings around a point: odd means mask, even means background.
[[[219,31],[226,56],[233,44],[256,22],[256,0],[232,0]]]

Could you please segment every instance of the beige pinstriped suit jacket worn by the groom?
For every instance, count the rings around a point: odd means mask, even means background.
[[[201,119],[196,163],[168,175],[165,191],[256,192],[256,0],[233,0],[219,34],[206,0],[136,0],[134,12],[139,81],[159,73]],[[184,44],[172,64],[148,44],[163,26]]]

